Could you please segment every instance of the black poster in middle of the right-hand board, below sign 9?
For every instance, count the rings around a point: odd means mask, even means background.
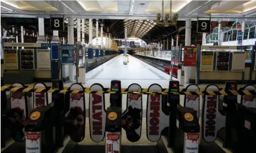
[[[229,51],[218,51],[216,71],[229,71]]]

